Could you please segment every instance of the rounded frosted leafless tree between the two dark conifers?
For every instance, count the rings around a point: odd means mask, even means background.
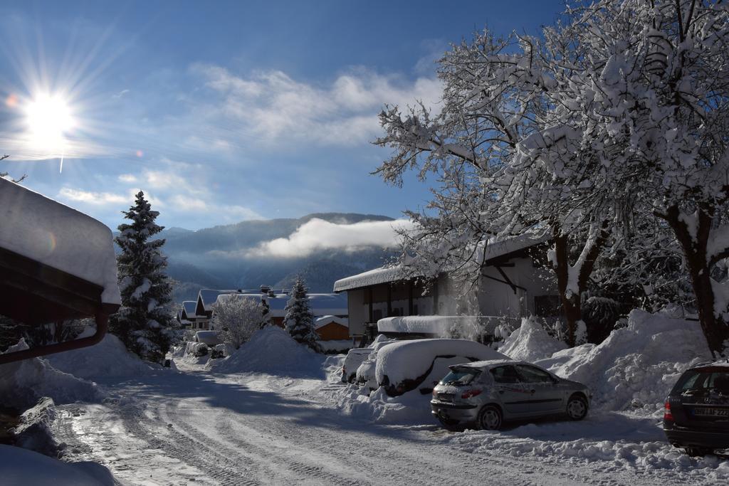
[[[261,329],[265,307],[261,302],[237,294],[220,297],[213,306],[215,329],[223,342],[238,349]]]

